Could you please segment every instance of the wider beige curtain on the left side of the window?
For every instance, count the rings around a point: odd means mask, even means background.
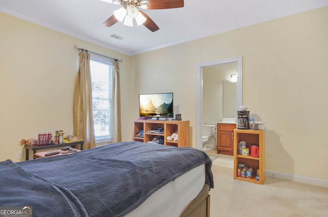
[[[92,116],[90,54],[86,52],[79,52],[79,67],[74,86],[73,134],[84,140],[84,150],[96,147]]]

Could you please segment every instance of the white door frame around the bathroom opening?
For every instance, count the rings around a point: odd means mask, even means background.
[[[209,67],[221,66],[224,64],[235,64],[237,69],[236,82],[236,111],[242,105],[242,57],[233,57],[211,62],[198,63],[196,66],[196,148],[202,149],[202,113],[203,113],[203,71]],[[223,109],[222,109],[223,113]],[[220,120],[219,120],[220,121]]]

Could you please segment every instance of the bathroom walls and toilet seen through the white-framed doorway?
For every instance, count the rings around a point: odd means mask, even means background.
[[[208,125],[216,126],[223,118],[236,117],[237,63],[227,63],[203,68],[202,86],[202,138],[203,149],[213,149],[217,145],[217,133],[206,134]],[[231,81],[229,81],[231,80]],[[205,135],[206,134],[206,135]],[[204,138],[208,137],[206,144]],[[207,138],[206,138],[207,139]]]

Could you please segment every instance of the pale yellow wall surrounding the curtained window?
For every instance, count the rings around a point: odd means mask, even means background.
[[[58,129],[72,134],[79,61],[74,45],[123,59],[121,95],[130,97],[131,57],[5,13],[0,13],[0,31],[0,161],[19,161],[16,153],[23,150],[18,145],[20,139],[36,138],[44,131],[54,134]],[[125,114],[122,127],[130,129],[129,101],[122,101],[121,106]],[[129,132],[122,134],[131,138]]]

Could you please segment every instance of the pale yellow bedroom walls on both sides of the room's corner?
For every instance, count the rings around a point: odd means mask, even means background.
[[[196,64],[243,56],[243,104],[265,121],[266,169],[328,179],[327,20],[324,7],[128,57],[0,13],[0,160],[17,161],[19,140],[39,131],[71,133],[77,44],[124,59],[124,141],[138,94],[174,92],[194,147]]]

